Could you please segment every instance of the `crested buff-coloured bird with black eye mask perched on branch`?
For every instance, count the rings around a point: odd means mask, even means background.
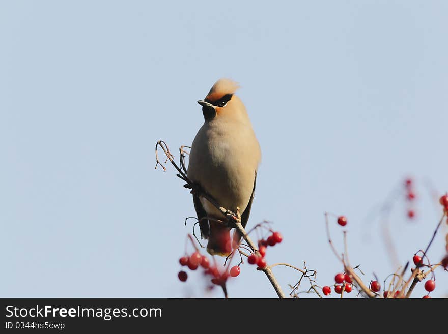
[[[260,144],[246,108],[235,95],[238,83],[221,78],[198,103],[204,124],[191,144],[187,177],[210,195],[220,206],[241,214],[246,226],[254,199],[257,170],[261,161]],[[208,239],[207,252],[229,256],[239,245],[241,235],[216,220],[225,216],[200,192],[192,192],[201,236]]]

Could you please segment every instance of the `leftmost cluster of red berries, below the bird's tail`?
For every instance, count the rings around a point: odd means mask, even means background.
[[[229,276],[237,277],[240,274],[240,267],[238,265],[233,266],[229,272],[227,270],[220,272],[216,265],[210,265],[207,256],[201,255],[198,251],[195,251],[190,256],[181,257],[179,263],[181,266],[186,266],[190,270],[196,270],[201,266],[204,269],[204,275],[211,276],[211,282],[216,285],[223,285]],[[185,282],[188,275],[185,271],[181,270],[179,271],[178,277],[180,281]]]

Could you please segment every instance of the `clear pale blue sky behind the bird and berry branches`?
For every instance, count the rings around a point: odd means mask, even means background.
[[[384,278],[395,268],[369,212],[416,178],[417,219],[400,200],[391,225],[404,264],[441,212],[425,184],[448,190],[447,15],[444,1],[1,2],[0,295],[204,296],[199,272],[177,279],[194,209],[173,168],[154,170],[154,144],[192,142],[220,77],[240,82],[262,148],[248,226],[283,233],[268,262],[305,260],[332,284],[328,210],[348,216],[366,281]],[[274,272],[285,291],[297,280]],[[229,292],[275,297],[249,265]]]

